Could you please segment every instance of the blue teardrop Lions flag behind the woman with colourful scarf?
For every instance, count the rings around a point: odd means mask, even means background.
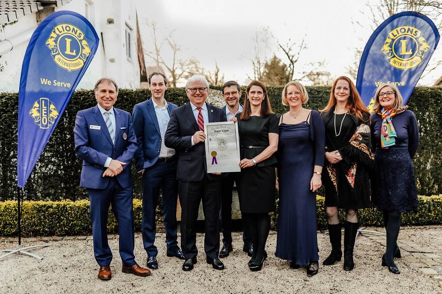
[[[374,92],[384,83],[398,86],[404,105],[439,43],[434,23],[417,12],[395,14],[371,35],[362,53],[356,88],[368,110]]]

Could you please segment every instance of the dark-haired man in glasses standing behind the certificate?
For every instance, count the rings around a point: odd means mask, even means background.
[[[227,117],[227,121],[233,118],[237,113],[243,111],[243,105],[240,104],[241,98],[240,85],[235,81],[226,82],[221,88],[222,98],[226,105],[222,111]],[[232,192],[238,172],[224,174],[221,186],[221,212],[220,226],[222,232],[222,249],[220,257],[227,257],[233,251],[232,246]],[[241,218],[242,219],[242,218]],[[249,227],[247,221],[243,221],[243,251],[249,256],[253,253],[253,246],[250,241]]]

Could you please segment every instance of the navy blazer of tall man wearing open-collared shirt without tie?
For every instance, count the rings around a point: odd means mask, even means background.
[[[169,117],[175,104],[167,103]],[[152,98],[134,106],[132,111],[135,135],[137,136],[137,152],[135,153],[135,168],[137,172],[147,169],[157,161],[161,150],[161,133],[157,113]]]

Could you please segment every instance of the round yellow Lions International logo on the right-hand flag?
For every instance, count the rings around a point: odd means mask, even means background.
[[[420,30],[399,26],[388,34],[381,51],[391,66],[406,71],[417,66],[429,48]]]

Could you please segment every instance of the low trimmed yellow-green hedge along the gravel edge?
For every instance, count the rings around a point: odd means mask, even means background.
[[[442,195],[419,196],[418,212],[402,214],[403,226],[442,224]],[[141,200],[134,199],[135,229],[141,230]],[[316,197],[318,230],[327,229],[324,197]],[[340,211],[345,221],[345,211]],[[361,226],[383,226],[382,212],[370,208],[359,210]],[[277,228],[277,220],[274,220]],[[17,236],[17,202],[0,202],[0,236]],[[67,236],[90,235],[89,201],[25,201],[22,216],[23,236]],[[108,232],[118,232],[118,224],[111,210],[108,217]]]

